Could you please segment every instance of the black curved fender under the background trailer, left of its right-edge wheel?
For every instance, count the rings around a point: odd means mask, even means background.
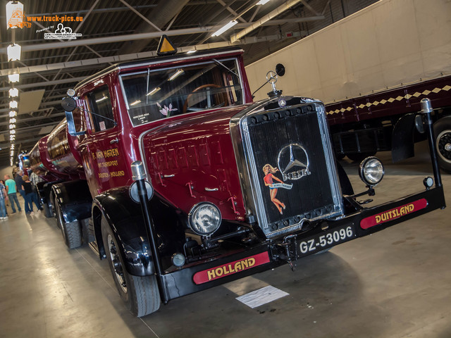
[[[397,120],[392,132],[392,161],[393,163],[414,157],[414,135],[416,113],[403,115]]]

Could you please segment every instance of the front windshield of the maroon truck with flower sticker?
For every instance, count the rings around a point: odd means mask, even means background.
[[[234,59],[122,75],[125,102],[133,125],[161,118],[242,104]]]

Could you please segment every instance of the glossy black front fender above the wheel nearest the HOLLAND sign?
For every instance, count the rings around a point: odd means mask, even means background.
[[[163,266],[171,265],[170,257],[181,252],[185,240],[183,217],[158,194],[149,201],[149,210],[154,220]],[[130,197],[129,187],[109,189],[96,196],[92,202],[94,235],[100,258],[105,255],[101,237],[101,217],[104,216],[121,246],[125,268],[130,275],[146,276],[155,273],[152,252],[147,239],[141,205]]]

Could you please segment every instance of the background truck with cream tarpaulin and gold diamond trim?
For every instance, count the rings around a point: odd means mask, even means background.
[[[335,154],[354,161],[377,151],[392,151],[394,161],[414,156],[424,140],[414,115],[428,97],[440,168],[451,173],[449,13],[450,1],[377,1],[247,65],[249,84],[257,89],[261,69],[283,64],[280,89],[323,101]],[[394,137],[396,125],[407,132]]]

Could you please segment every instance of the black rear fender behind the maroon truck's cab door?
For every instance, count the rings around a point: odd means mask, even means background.
[[[91,217],[92,196],[87,181],[76,180],[52,184],[51,192],[67,223]]]

